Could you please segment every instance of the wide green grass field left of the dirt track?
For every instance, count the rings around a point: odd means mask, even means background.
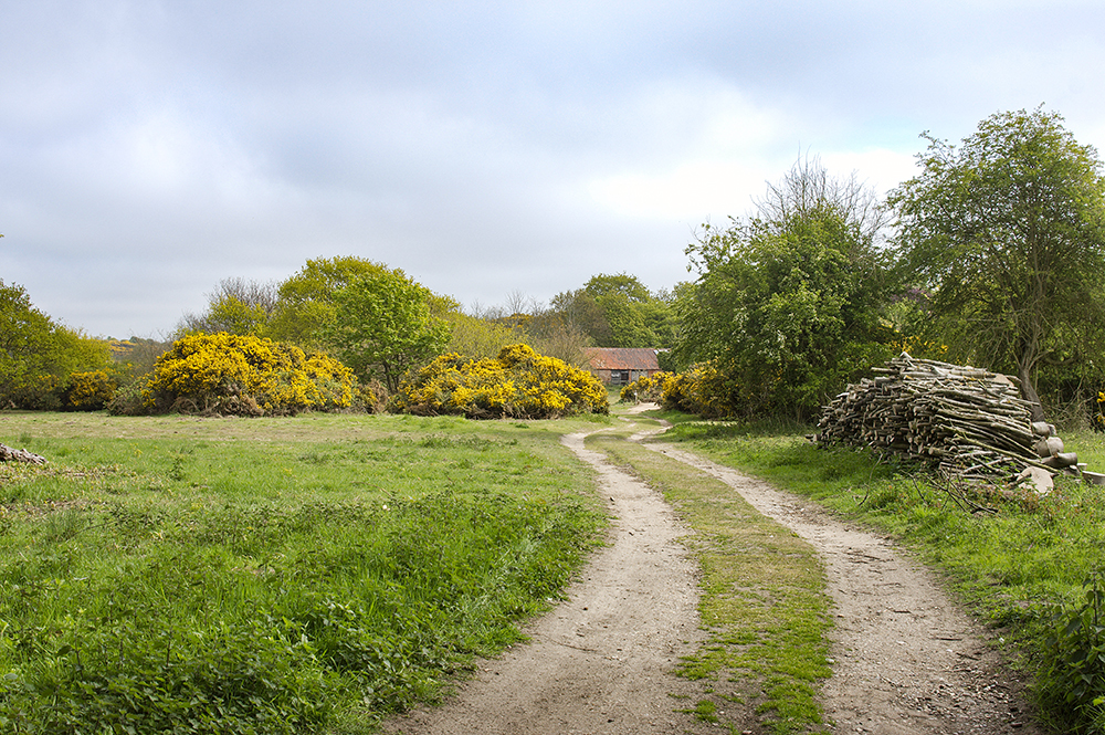
[[[603,419],[606,420],[606,419]],[[0,728],[356,733],[559,595],[593,423],[4,413]]]

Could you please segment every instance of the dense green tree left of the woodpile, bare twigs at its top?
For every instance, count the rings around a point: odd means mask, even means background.
[[[759,216],[705,225],[687,248],[678,364],[713,361],[735,413],[808,419],[888,356],[892,281],[873,193],[817,159],[769,189]]]

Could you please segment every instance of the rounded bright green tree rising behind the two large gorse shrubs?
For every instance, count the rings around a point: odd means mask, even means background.
[[[361,379],[394,391],[412,367],[436,356],[450,326],[433,313],[434,294],[400,271],[365,273],[334,292],[334,318],[320,336]]]

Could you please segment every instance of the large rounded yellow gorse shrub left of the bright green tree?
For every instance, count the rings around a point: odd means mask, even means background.
[[[190,335],[157,359],[143,389],[146,410],[284,416],[352,405],[352,370],[294,345],[221,332]]]

